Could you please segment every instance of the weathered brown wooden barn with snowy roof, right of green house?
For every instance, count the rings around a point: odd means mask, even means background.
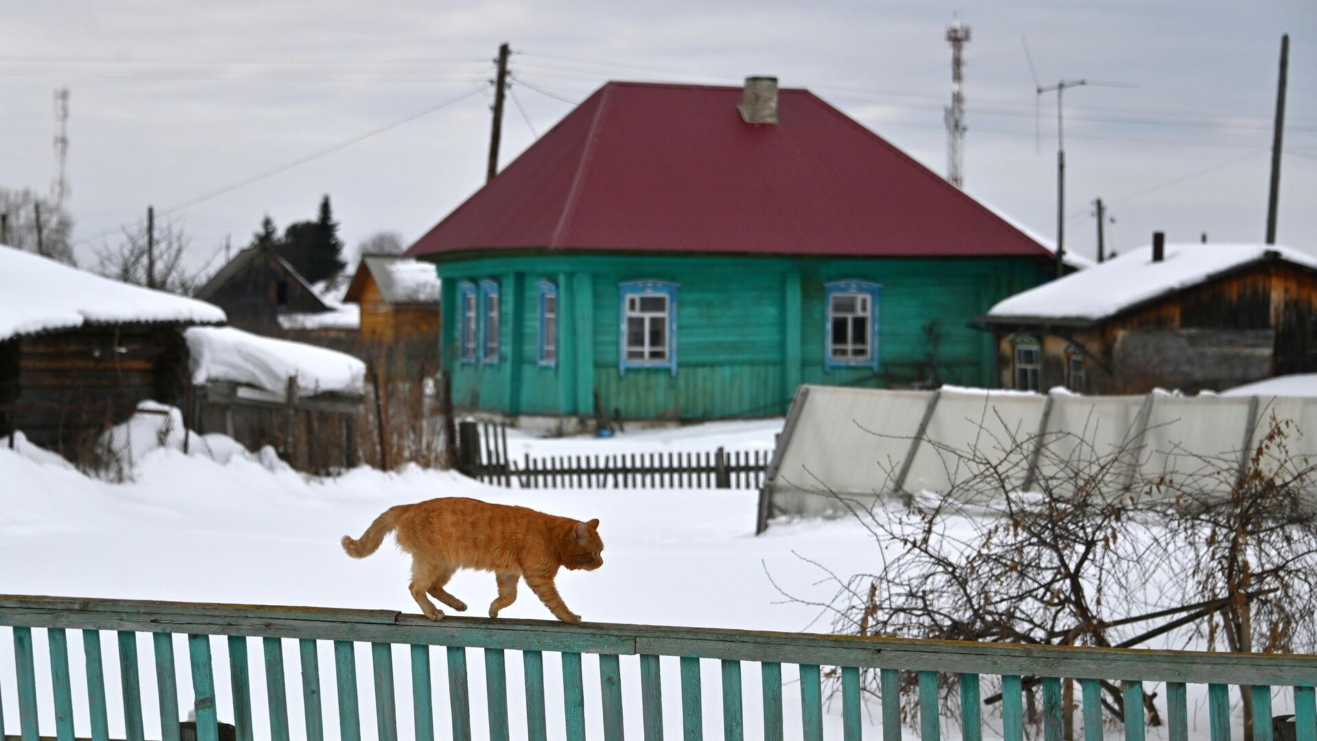
[[[1317,370],[1317,258],[1264,244],[1151,245],[980,316],[1001,386],[1223,390]]]

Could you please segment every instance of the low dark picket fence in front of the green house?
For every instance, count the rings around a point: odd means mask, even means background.
[[[462,422],[458,471],[522,489],[759,489],[769,451],[627,452],[512,459],[507,427]]]

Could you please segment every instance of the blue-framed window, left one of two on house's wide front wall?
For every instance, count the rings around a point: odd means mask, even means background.
[[[677,374],[677,283],[627,281],[622,293],[618,370],[668,368]]]

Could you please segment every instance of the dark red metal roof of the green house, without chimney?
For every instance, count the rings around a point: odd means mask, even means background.
[[[471,249],[1050,257],[807,90],[610,82],[407,254]]]

